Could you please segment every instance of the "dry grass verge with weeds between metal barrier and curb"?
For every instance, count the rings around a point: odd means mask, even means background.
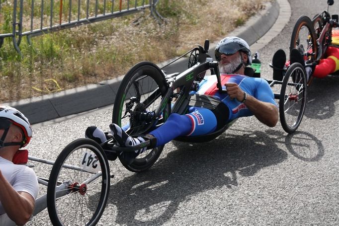
[[[34,49],[23,40],[22,59],[5,40],[0,49],[0,102],[111,79],[137,62],[160,63],[179,56],[205,39],[226,36],[267,1],[160,0],[158,11],[166,17],[161,25],[146,10],[47,34],[32,39]]]

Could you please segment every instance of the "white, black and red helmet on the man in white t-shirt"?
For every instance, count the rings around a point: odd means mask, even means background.
[[[14,124],[21,128],[24,135],[24,139],[21,143],[7,143],[6,145],[3,143],[10,124]],[[32,138],[32,128],[28,119],[20,111],[9,106],[0,105],[0,129],[5,130],[0,139],[0,148],[18,144],[20,144],[21,147],[25,147]]]

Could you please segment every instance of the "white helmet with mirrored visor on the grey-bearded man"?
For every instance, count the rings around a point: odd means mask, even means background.
[[[252,53],[250,51],[250,46],[242,38],[231,36],[231,37],[226,37],[222,39],[218,43],[218,45],[215,47],[214,54],[215,54],[215,58],[217,59],[217,61],[220,61],[222,54],[232,55],[238,51],[244,52],[248,55],[246,66],[251,65],[252,64],[252,56],[251,56]]]

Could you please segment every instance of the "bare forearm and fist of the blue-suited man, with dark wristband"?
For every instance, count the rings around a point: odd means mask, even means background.
[[[226,89],[230,98],[236,98],[242,102],[244,100],[244,91],[236,83],[227,83]],[[245,105],[252,111],[254,116],[263,124],[274,127],[278,122],[278,108],[268,102],[263,102],[247,93]]]

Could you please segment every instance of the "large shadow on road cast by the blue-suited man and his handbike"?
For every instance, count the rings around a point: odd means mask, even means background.
[[[227,146],[218,139],[227,139]],[[259,131],[175,146],[150,170],[111,185],[108,205],[116,207],[117,224],[165,224],[193,194],[238,186],[239,176],[253,176],[287,158],[274,139]]]

